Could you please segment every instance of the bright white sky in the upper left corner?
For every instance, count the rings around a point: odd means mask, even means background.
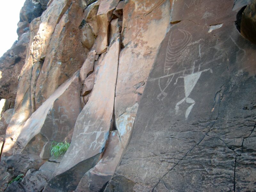
[[[18,39],[17,23],[25,0],[2,0],[0,6],[0,57]]]

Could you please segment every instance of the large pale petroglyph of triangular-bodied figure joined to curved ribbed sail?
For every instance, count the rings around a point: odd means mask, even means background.
[[[185,51],[188,44],[192,40],[192,35],[188,31],[182,30],[182,29],[178,29],[178,31],[182,35],[181,39],[175,40],[172,37],[172,32],[169,36],[168,46],[167,46],[166,56],[165,56],[165,62],[164,62],[164,76],[155,78],[152,80],[158,79],[158,86],[160,89],[160,93],[157,95],[157,99],[163,100],[167,96],[167,93],[165,92],[165,90],[169,86],[169,84],[171,84],[174,76],[175,75],[178,76],[176,78],[174,85],[177,84],[179,78],[184,79],[185,97],[182,100],[180,100],[179,102],[177,102],[177,104],[175,106],[175,111],[176,111],[176,113],[179,112],[179,105],[182,104],[183,102],[187,102],[187,103],[191,104],[185,112],[185,118],[187,119],[189,113],[191,112],[193,106],[195,105],[195,101],[193,99],[189,98],[188,96],[194,89],[201,74],[205,71],[210,71],[212,73],[212,69],[207,68],[204,70],[200,70],[202,63],[198,64],[198,66],[195,67],[196,62],[194,62],[193,66],[189,70],[188,69],[186,70],[186,68],[184,68],[183,70],[180,70],[178,72],[170,73],[172,67],[177,65],[177,62],[179,61],[180,57],[182,56],[182,53]],[[201,58],[200,46],[199,46],[199,58]],[[190,71],[190,72],[188,73],[187,71]],[[188,73],[188,74],[186,74],[186,73]],[[161,84],[161,81],[162,81],[162,84]],[[163,86],[163,82],[164,82],[164,86]]]

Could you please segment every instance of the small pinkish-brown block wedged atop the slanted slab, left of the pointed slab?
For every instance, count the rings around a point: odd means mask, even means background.
[[[95,56],[96,56],[96,51],[94,51],[94,50],[92,50],[88,53],[88,56],[80,69],[80,81],[81,82],[84,82],[87,75],[93,71]]]

